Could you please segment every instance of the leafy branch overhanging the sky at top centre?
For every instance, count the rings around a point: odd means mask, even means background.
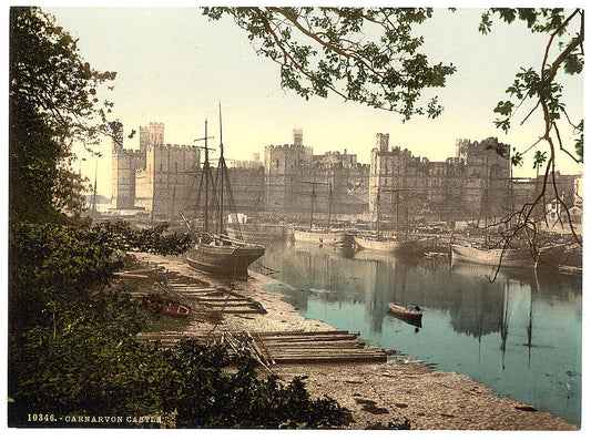
[[[346,101],[403,115],[439,115],[437,96],[452,64],[430,64],[412,27],[432,8],[204,8],[212,20],[231,16],[258,54],[279,64],[282,86],[308,99],[335,93]]]

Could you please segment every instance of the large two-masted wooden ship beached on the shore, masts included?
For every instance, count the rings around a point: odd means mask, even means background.
[[[201,174],[200,191],[204,188],[204,211],[203,211],[203,229],[196,233],[195,243],[190,248],[186,260],[193,268],[222,275],[236,280],[246,280],[248,278],[248,266],[257,258],[265,254],[265,247],[257,244],[249,244],[242,237],[230,237],[225,229],[225,205],[234,206],[234,198],[230,185],[227,165],[224,158],[224,144],[222,141],[222,106],[220,105],[220,160],[217,167],[217,177],[214,182],[210,166],[207,147],[207,121],[205,121],[205,161]],[[198,141],[198,140],[196,140]],[[212,197],[213,196],[213,197]],[[224,197],[227,196],[225,199]],[[213,198],[213,201],[212,201]],[[211,205],[212,204],[212,205]],[[216,213],[215,233],[210,230],[210,216]],[[235,212],[235,209],[234,209]],[[235,216],[231,216],[235,217]]]

